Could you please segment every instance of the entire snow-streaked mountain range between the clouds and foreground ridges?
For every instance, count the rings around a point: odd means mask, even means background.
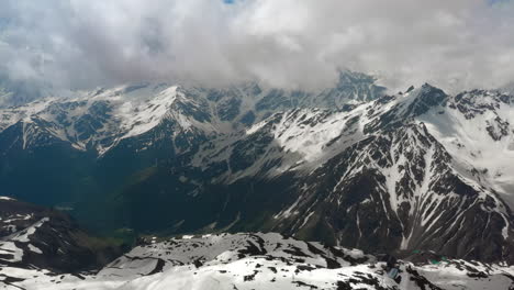
[[[81,91],[0,109],[1,193],[100,233],[276,232],[510,265],[513,104],[428,83],[390,93],[349,71],[315,92]]]

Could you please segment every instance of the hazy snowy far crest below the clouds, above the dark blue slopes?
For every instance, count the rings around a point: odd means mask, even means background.
[[[334,108],[335,103],[339,108],[350,101],[375,99],[384,89],[373,81],[365,75],[342,72],[335,88],[321,92],[266,89],[256,83],[224,90],[142,83],[79,91],[64,99],[0,109],[0,131],[23,123],[30,127],[23,131],[25,146],[33,135],[44,134],[101,155],[122,140],[142,135],[166,120],[176,122],[181,131],[227,132],[278,110]]]

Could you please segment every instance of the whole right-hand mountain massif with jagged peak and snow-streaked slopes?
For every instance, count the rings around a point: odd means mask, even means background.
[[[259,220],[261,228],[366,250],[424,248],[512,260],[512,192],[496,189],[502,183],[485,175],[490,169],[480,167],[478,152],[456,153],[462,144],[474,146],[470,135],[487,138],[483,156],[511,144],[509,121],[502,121],[513,112],[511,97],[481,93],[496,96],[494,103],[425,85],[344,111],[277,113],[244,134],[203,147],[192,165],[213,174],[213,182],[224,185],[219,190],[241,191],[247,185],[254,192],[255,185],[268,183],[276,187],[270,197],[289,197],[286,203],[275,198],[280,210]],[[455,121],[469,111],[479,113]],[[452,137],[450,143],[443,133]],[[492,161],[495,166],[514,164],[509,154],[498,158],[503,160]],[[232,207],[244,211],[247,205]],[[233,228],[246,228],[256,217],[233,219]]]

